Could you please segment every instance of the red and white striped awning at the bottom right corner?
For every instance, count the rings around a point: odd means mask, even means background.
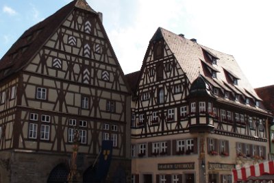
[[[274,161],[261,162],[259,164],[251,165],[249,167],[242,167],[232,170],[232,180],[234,182],[241,180],[246,181],[254,178],[260,179],[260,177],[262,177],[263,175],[274,176]],[[273,176],[271,176],[271,180],[274,179]]]

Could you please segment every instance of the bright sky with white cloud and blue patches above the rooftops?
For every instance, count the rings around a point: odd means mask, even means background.
[[[140,70],[158,27],[234,56],[253,88],[274,84],[273,0],[86,0],[125,74]],[[70,0],[0,0],[0,58],[32,25]]]

